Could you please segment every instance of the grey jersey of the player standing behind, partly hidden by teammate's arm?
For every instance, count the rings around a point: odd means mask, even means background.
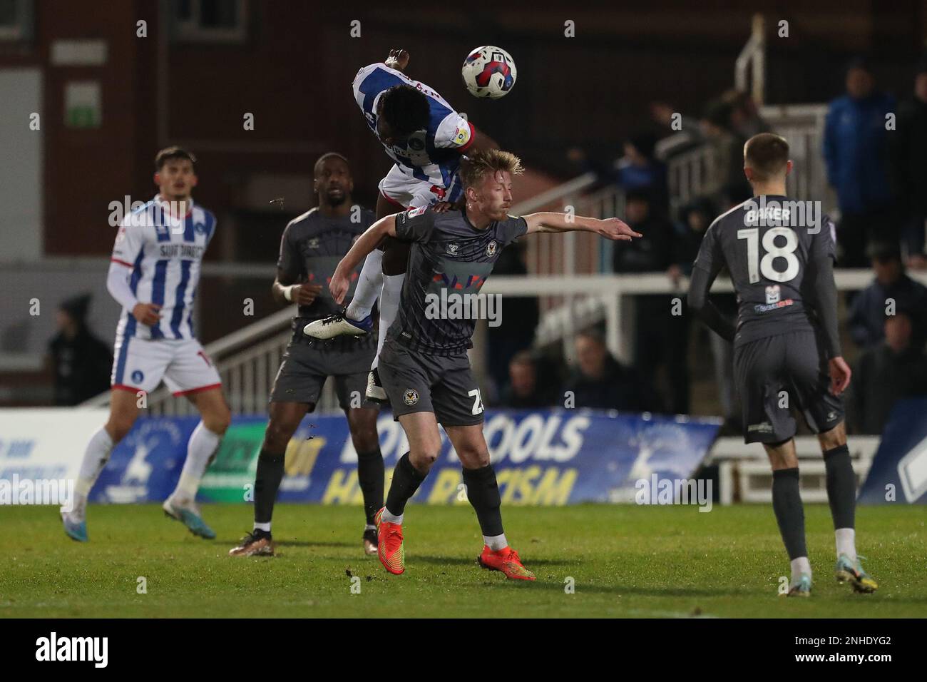
[[[286,225],[280,239],[277,267],[295,281],[321,284],[322,290],[311,305],[299,306],[299,317],[321,319],[341,310],[328,290],[338,262],[344,257],[364,230],[375,222],[372,211],[362,209],[360,220],[351,222],[350,215],[329,217],[317,208],[305,212]],[[351,275],[346,301],[354,295],[361,266]]]

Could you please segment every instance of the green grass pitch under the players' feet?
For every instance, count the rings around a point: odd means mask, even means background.
[[[92,506],[83,545],[61,531],[54,508],[0,508],[0,616],[927,615],[920,507],[857,510],[857,545],[880,590],[856,595],[832,578],[828,508],[807,506],[810,599],[777,596],[789,564],[768,506],[503,508],[535,583],[476,566],[482,543],[469,507],[410,505],[400,576],[362,555],[362,512],[351,507],[280,505],[278,556],[232,559],[250,514],[204,507],[219,535],[206,541],[156,505]],[[361,594],[351,594],[346,572],[360,576]],[[147,594],[136,593],[139,576]],[[568,576],[575,594],[565,593]]]

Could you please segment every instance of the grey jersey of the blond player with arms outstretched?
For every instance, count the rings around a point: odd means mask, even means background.
[[[513,215],[479,230],[460,211],[421,208],[397,214],[396,236],[413,244],[400,314],[387,339],[428,354],[472,348],[476,320],[457,315],[463,306],[455,312],[453,305],[473,302],[473,296],[466,297],[479,293],[502,249],[526,232],[527,221]]]

